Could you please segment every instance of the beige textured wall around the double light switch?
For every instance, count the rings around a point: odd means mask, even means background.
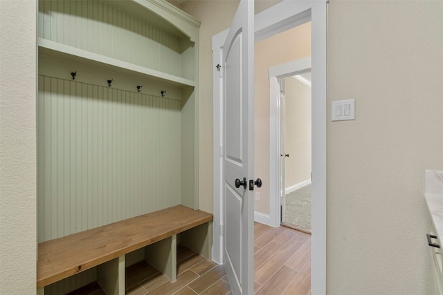
[[[443,1],[329,2],[327,292],[428,294],[424,170],[443,168]],[[330,121],[356,99],[356,120]]]

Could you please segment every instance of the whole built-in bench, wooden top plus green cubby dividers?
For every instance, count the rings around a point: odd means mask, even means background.
[[[213,215],[182,205],[38,245],[37,289],[91,267],[106,294],[125,294],[125,254],[145,247],[150,265],[177,280],[177,243],[210,259]],[[179,235],[179,236],[177,236]]]

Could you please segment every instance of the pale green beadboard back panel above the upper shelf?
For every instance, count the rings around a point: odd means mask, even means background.
[[[195,79],[183,73],[179,37],[101,1],[40,0],[38,27],[44,39]]]

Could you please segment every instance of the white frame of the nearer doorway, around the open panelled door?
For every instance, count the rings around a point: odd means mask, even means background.
[[[255,41],[311,21],[312,70],[312,178],[311,207],[311,294],[326,294],[326,15],[327,1],[284,0],[255,15]],[[221,212],[221,79],[217,64],[221,64],[221,46],[227,32],[213,36],[213,260],[222,263],[224,222]]]

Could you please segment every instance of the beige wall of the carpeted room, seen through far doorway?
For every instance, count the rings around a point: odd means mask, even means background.
[[[294,77],[284,79],[286,100],[284,187],[311,179],[311,87]]]

